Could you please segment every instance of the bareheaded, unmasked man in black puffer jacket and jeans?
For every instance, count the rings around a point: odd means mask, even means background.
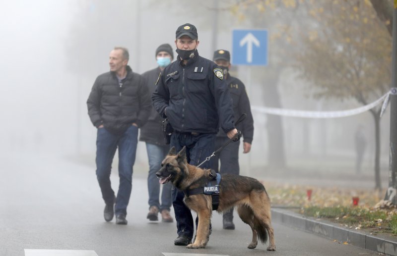
[[[146,123],[151,100],[144,78],[128,66],[126,48],[110,52],[110,72],[99,75],[87,100],[88,115],[98,128],[96,141],[96,175],[105,201],[104,218],[127,224],[127,206],[132,190],[132,166],[138,127]],[[110,184],[111,165],[119,149],[120,185],[117,197]]]

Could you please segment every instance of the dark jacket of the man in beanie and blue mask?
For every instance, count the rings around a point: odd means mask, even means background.
[[[156,89],[156,81],[160,72],[160,68],[156,67],[142,74],[143,78],[145,78],[146,86],[150,95]],[[139,140],[163,146],[165,145],[163,132],[161,131],[161,121],[163,120],[163,118],[161,118],[159,113],[157,113],[156,109],[154,109],[151,104],[150,106],[151,111],[149,114],[149,118],[147,119],[147,122],[140,128]]]

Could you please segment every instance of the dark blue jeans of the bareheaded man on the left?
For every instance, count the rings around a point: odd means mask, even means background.
[[[123,134],[115,135],[105,128],[99,128],[96,140],[96,176],[105,204],[112,204],[115,192],[110,184],[113,157],[119,148],[119,192],[115,212],[127,214],[127,205],[132,190],[132,166],[135,162],[138,127],[130,126]]]

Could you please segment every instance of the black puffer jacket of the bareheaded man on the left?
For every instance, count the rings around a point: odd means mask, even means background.
[[[88,115],[94,126],[101,124],[122,134],[136,123],[142,126],[150,113],[150,95],[144,79],[127,66],[127,76],[119,84],[115,72],[99,75],[87,100]]]

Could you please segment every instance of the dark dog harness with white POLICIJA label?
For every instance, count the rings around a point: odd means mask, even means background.
[[[211,177],[212,179],[208,182],[207,186],[184,190],[183,193],[186,197],[199,194],[211,195],[212,210],[216,210],[219,206],[219,183],[221,177],[220,174],[215,173],[214,170],[211,170],[211,172],[209,173],[209,177]]]

